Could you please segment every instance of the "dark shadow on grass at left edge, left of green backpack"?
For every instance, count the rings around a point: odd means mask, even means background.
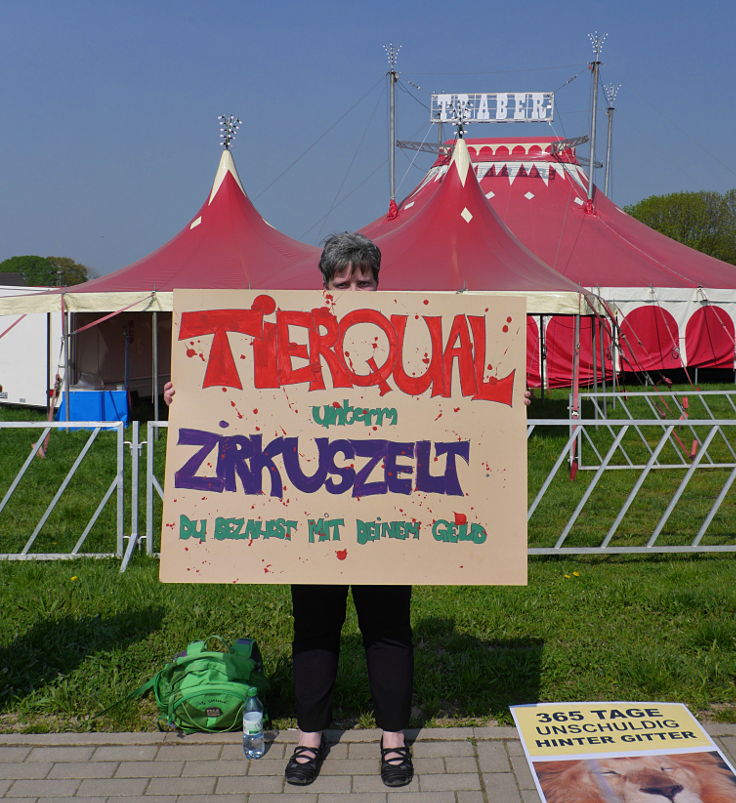
[[[114,616],[62,616],[37,622],[0,648],[0,711],[74,671],[88,656],[119,650],[160,629],[165,610],[149,606]]]

